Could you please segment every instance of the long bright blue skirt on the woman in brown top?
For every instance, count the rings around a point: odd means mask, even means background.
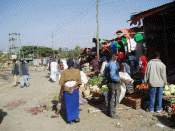
[[[67,121],[70,122],[79,118],[79,89],[74,90],[72,94],[69,94],[69,91],[66,91],[65,103]]]

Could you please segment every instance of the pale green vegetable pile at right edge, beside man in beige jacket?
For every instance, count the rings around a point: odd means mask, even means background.
[[[173,84],[165,85],[165,88],[163,90],[163,94],[166,96],[175,95],[175,85],[173,85]]]

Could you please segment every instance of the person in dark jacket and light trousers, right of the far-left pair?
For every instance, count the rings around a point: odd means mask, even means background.
[[[24,87],[24,84],[26,84],[27,87],[30,86],[27,75],[29,75],[29,67],[25,60],[21,60],[21,65],[20,65],[20,75],[22,76],[22,81],[21,81],[21,88]]]

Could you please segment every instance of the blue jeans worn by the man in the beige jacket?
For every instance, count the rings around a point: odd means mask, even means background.
[[[154,107],[156,107],[156,111],[160,111],[162,109],[162,96],[163,96],[163,87],[149,87],[149,110],[154,111]],[[156,104],[155,104],[156,103]]]

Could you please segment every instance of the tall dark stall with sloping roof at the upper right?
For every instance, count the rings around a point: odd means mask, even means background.
[[[174,68],[175,62],[175,1],[131,16],[131,25],[143,19],[148,60],[155,51],[161,53],[161,60],[167,71]]]

